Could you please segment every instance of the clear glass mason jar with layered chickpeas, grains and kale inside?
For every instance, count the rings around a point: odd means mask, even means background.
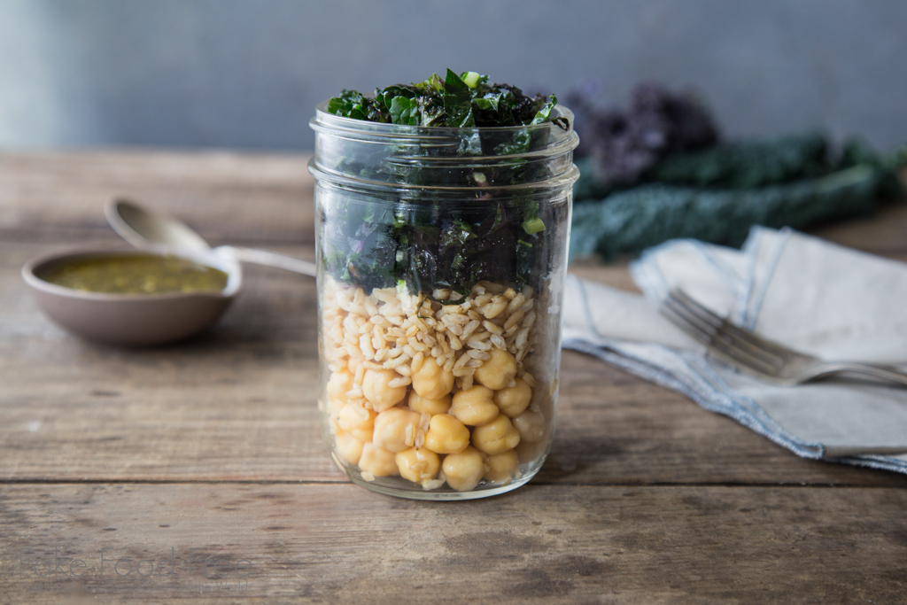
[[[322,430],[336,464],[424,500],[515,489],[545,460],[579,138],[317,107]]]

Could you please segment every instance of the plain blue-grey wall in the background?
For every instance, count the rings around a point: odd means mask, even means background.
[[[308,149],[317,102],[448,66],[907,142],[905,0],[0,0],[0,147]]]

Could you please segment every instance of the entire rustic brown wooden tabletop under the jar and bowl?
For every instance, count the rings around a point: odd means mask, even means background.
[[[0,155],[0,602],[907,601],[907,476],[802,460],[590,357],[564,353],[532,483],[411,502],[327,456],[308,278],[249,267],[217,329],[132,351],[55,327],[19,278],[116,245],[114,194],[311,258],[306,160]],[[907,260],[904,206],[817,232]],[[576,270],[633,288],[623,265]]]

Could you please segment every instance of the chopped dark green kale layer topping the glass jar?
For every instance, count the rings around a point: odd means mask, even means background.
[[[379,179],[424,189],[378,203],[350,196],[326,204],[322,249],[328,273],[366,288],[405,285],[414,292],[453,288],[464,294],[483,279],[522,288],[543,275],[545,229],[566,229],[566,205],[552,210],[495,188],[544,180],[546,169],[511,158],[448,173],[432,161],[541,149],[547,132],[519,127],[552,122],[568,130],[566,120],[552,113],[556,103],[554,95],[530,97],[510,84],[490,84],[485,75],[451,70],[444,78],[433,74],[422,83],[376,89],[374,95],[345,90],[331,99],[327,112],[356,120],[460,131],[453,146],[401,151],[407,161],[375,167],[369,165],[374,159],[344,158],[339,170],[347,174],[359,175],[367,167],[385,171]],[[494,126],[517,128],[482,130]],[[474,193],[461,191],[451,199],[435,190],[464,184]]]

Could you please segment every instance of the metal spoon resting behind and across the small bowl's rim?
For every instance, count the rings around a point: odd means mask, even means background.
[[[201,239],[201,236],[185,223],[148,210],[134,201],[110,200],[104,206],[104,215],[113,230],[136,248],[147,248],[151,244],[169,249],[213,251],[216,255],[226,259],[284,268],[313,278],[317,275],[315,263],[293,259],[267,250],[235,246],[219,246],[211,249],[208,242]]]

